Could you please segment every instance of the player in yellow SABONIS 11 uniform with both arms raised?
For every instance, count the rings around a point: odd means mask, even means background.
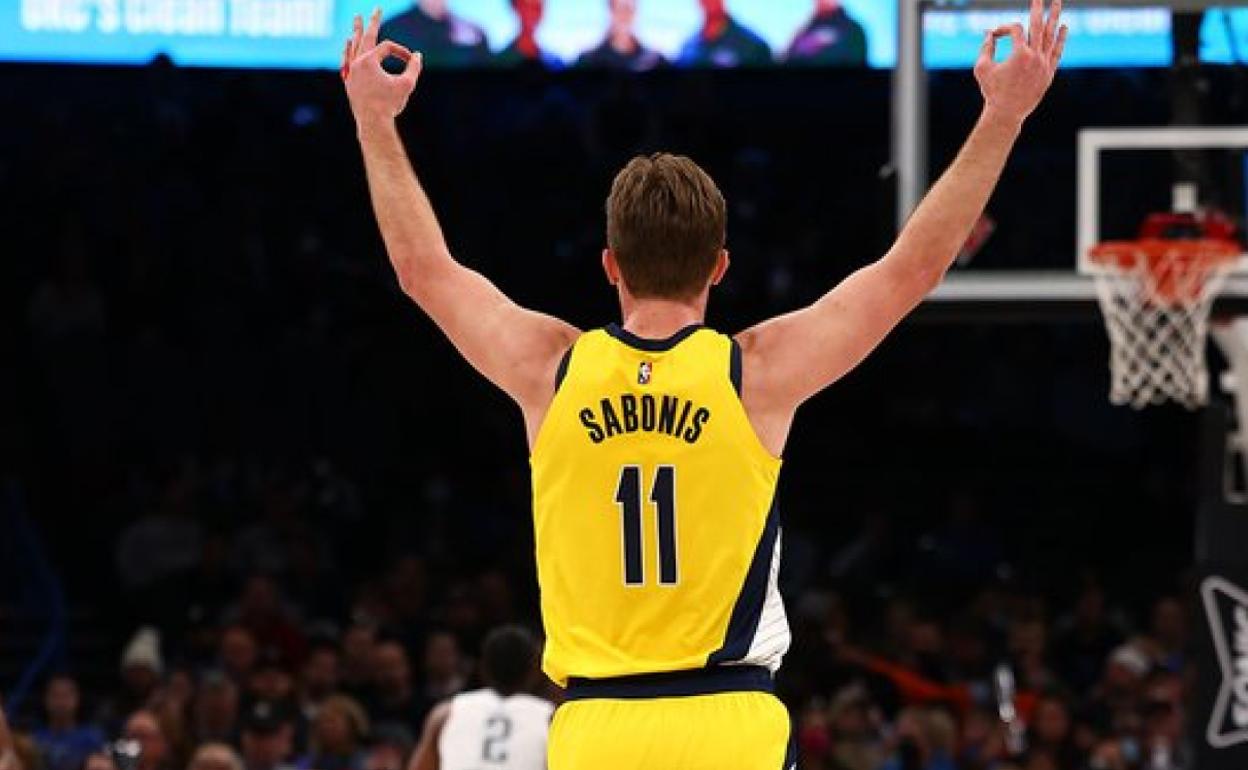
[[[982,115],[897,242],[821,300],[735,337],[703,326],[728,271],[724,198],[691,161],[638,157],[607,202],[622,323],[580,332],[451,256],[394,119],[419,54],[357,20],[343,56],[373,208],[403,291],[519,406],[532,451],[543,666],[567,688],[553,770],[789,768],[771,694],[789,646],[773,508],[797,407],[940,282],[1053,81],[1060,2],[985,35]],[[996,41],[1012,40],[1005,61]],[[407,61],[399,75],[386,56]]]

